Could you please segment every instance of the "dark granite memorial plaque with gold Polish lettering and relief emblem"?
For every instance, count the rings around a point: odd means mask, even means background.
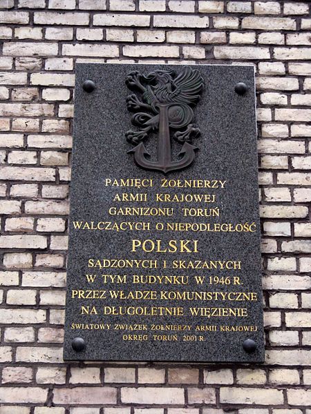
[[[64,358],[263,362],[254,68],[77,64]]]

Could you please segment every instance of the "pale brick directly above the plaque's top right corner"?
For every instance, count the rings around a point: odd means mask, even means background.
[[[215,46],[216,59],[270,59],[268,48],[250,48],[248,46]]]

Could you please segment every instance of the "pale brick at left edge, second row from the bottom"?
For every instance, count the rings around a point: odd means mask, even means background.
[[[5,387],[0,389],[0,401],[5,403],[39,403],[43,404],[48,390],[39,387]]]

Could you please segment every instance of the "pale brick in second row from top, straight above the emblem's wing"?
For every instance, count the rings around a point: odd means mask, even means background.
[[[149,23],[148,25],[149,26]],[[205,16],[157,16],[153,17],[153,26],[169,28],[208,28],[209,18]]]

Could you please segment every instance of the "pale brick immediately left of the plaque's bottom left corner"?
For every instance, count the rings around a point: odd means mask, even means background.
[[[17,362],[43,362],[55,364],[57,362],[62,362],[62,348],[18,346],[16,360]]]

